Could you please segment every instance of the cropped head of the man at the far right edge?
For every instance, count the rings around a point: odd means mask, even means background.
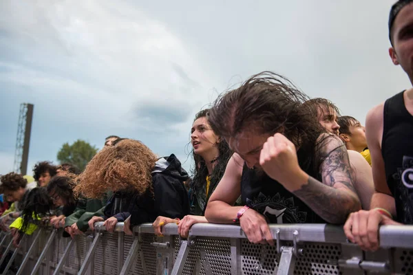
[[[401,65],[413,84],[413,3],[397,14],[392,27],[393,46],[389,50],[394,65]]]

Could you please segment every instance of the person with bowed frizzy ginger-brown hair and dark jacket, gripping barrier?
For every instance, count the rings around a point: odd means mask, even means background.
[[[88,198],[114,192],[103,215],[90,219],[89,227],[93,230],[96,221],[105,221],[111,232],[116,223],[125,221],[125,231],[130,233],[134,225],[154,221],[158,215],[182,218],[188,214],[183,184],[187,179],[175,155],[158,159],[142,142],[124,139],[93,157],[77,177],[74,190]]]

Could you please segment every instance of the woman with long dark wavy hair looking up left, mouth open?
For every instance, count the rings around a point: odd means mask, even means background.
[[[178,223],[178,232],[187,237],[189,228],[195,223],[207,223],[204,217],[209,197],[225,172],[231,151],[225,140],[211,129],[208,121],[209,109],[195,115],[191,128],[192,155],[195,162],[190,183],[191,213],[181,221],[170,217],[158,217],[153,223],[155,234],[162,235],[162,225]]]

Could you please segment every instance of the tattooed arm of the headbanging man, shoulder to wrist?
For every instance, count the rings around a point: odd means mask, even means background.
[[[346,146],[335,135],[322,135],[319,155],[322,182],[308,177],[306,184],[293,194],[329,223],[344,223],[351,212],[361,209],[354,190],[354,173],[350,166]]]

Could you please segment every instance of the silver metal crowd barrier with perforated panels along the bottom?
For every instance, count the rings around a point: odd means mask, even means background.
[[[95,232],[74,239],[41,228],[24,236],[19,249],[1,233],[0,262],[6,265],[12,254],[3,274],[13,260],[17,274],[413,274],[412,225],[382,226],[377,252],[348,243],[334,225],[270,229],[275,246],[250,243],[237,225],[195,224],[188,239],[180,239],[175,224],[165,225],[162,237],[149,223],[135,228],[134,236],[123,233],[123,223],[114,232],[96,223]]]

